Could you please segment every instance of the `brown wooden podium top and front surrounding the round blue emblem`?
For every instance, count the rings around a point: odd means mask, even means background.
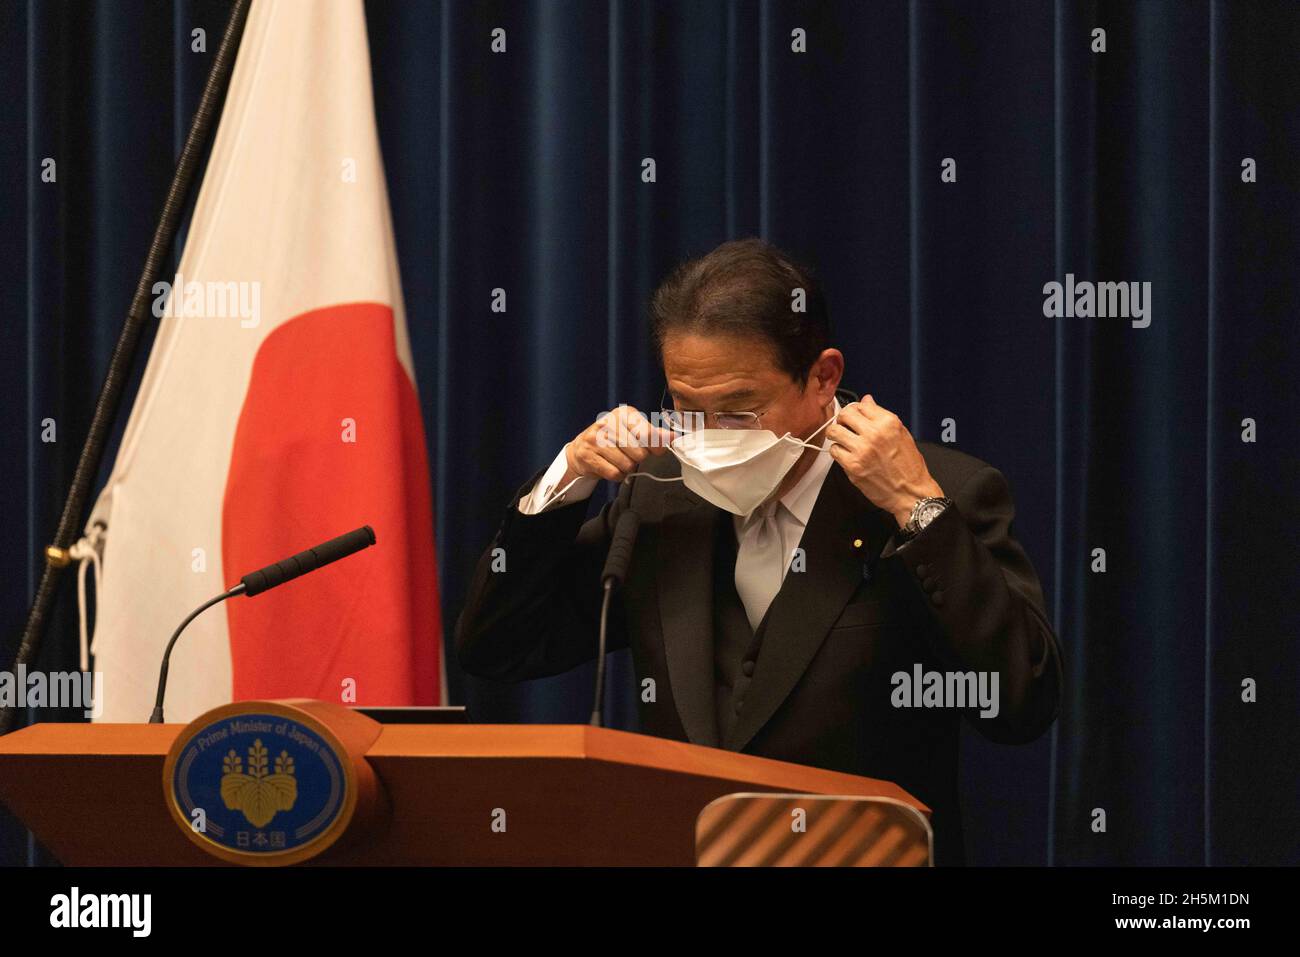
[[[382,793],[361,839],[311,863],[693,866],[697,818],[734,792],[880,797],[930,814],[887,781],[623,731],[378,724],[350,711],[346,722]],[[164,762],[187,727],[23,728],[0,737],[0,800],[65,865],[222,863],[164,796]],[[502,811],[508,824],[494,831]]]

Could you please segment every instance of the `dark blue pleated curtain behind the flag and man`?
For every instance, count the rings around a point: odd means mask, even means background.
[[[226,12],[0,5],[0,667]],[[1066,697],[1034,745],[963,732],[970,859],[1300,862],[1300,4],[368,14],[448,636],[512,490],[602,410],[658,400],[655,282],[758,234],[822,274],[846,385],[922,438],[953,419],[1017,494]],[[1066,273],[1150,282],[1149,328],[1044,317]],[[75,667],[74,601],[68,575],[47,668]],[[448,671],[478,720],[589,707],[590,668],[519,687]],[[629,681],[624,654],[608,711],[634,728]],[[48,859],[3,819],[0,861],[29,857]]]

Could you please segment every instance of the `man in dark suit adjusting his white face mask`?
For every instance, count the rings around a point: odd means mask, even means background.
[[[594,658],[633,508],[608,646],[632,650],[642,731],[892,780],[932,809],[936,863],[962,863],[961,718],[1027,742],[1061,697],[1006,480],[838,389],[820,289],[767,243],[679,267],[651,324],[672,407],[601,416],[519,490],[458,622],[462,667],[519,681]],[[630,486],[588,520],[601,478]],[[979,676],[993,705],[918,706],[905,685],[930,672]]]

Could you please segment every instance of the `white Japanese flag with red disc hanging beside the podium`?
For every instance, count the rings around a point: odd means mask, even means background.
[[[256,0],[112,476],[94,667],[146,720],[162,649],[247,572],[377,545],[200,615],[166,716],[244,698],[445,700],[424,428],[361,0]]]

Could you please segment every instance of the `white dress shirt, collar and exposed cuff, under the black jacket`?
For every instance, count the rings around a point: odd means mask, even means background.
[[[840,415],[840,400],[835,399],[835,407],[832,415]],[[824,434],[824,433],[823,433]],[[774,563],[774,567],[768,568],[766,572],[759,572],[759,576],[764,579],[768,584],[767,586],[744,586],[738,583],[737,590],[741,592],[742,601],[745,603],[746,614],[749,615],[750,624],[758,627],[758,622],[762,620],[763,614],[767,611],[768,605],[771,605],[772,598],[776,597],[776,592],[780,590],[780,584],[785,581],[785,573],[790,568],[792,559],[794,558],[794,550],[798,547],[800,541],[803,537],[803,529],[809,524],[809,518],[812,515],[812,506],[816,505],[816,497],[822,492],[822,482],[826,481],[827,472],[831,471],[831,465],[835,464],[835,459],[831,458],[829,452],[831,439],[823,438],[822,451],[816,454],[812,459],[812,464],[809,471],[794,484],[794,486],[786,492],[776,502],[776,512],[774,515],[776,520],[776,528],[780,534],[781,547],[780,551],[772,549],[764,549],[763,563]],[[563,489],[556,489],[560,478],[564,477],[564,472],[568,469],[568,462],[564,458],[564,450],[560,449],[559,455],[551,463],[546,473],[537,481],[532,492],[524,498],[519,499],[519,511],[524,515],[537,515],[538,512],[552,508],[562,502],[581,502],[589,498],[595,490],[598,478],[585,478],[578,477],[571,481]],[[768,503],[767,507],[771,507]],[[750,560],[750,547],[754,541],[754,536],[746,537],[746,531],[757,531],[753,525],[762,521],[764,511],[767,507],[755,508],[749,516],[742,518],[740,515],[732,516],[732,527],[736,529],[736,567],[738,572],[746,579],[754,576],[754,563]],[[775,564],[780,564],[780,572]]]

